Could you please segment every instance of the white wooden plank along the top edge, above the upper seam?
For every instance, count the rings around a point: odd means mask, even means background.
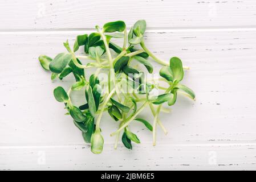
[[[94,28],[116,19],[128,27],[146,19],[151,28],[256,26],[256,2],[245,1],[3,1],[0,30]]]

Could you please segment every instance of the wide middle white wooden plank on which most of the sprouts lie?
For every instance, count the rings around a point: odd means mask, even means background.
[[[64,115],[63,105],[52,96],[56,86],[68,88],[73,78],[52,83],[37,60],[42,53],[54,56],[65,51],[62,42],[70,39],[72,43],[75,35],[82,33],[0,34],[1,146],[84,143],[72,119]],[[159,130],[157,143],[255,142],[255,38],[253,29],[147,32],[145,42],[157,56],[180,56],[191,67],[183,83],[197,94],[196,102],[179,96],[172,113],[161,115],[169,134],[164,136]],[[159,70],[159,65],[154,66]],[[82,104],[83,93],[72,99]],[[147,111],[141,116],[152,122]],[[101,123],[105,143],[112,144],[114,138],[109,133],[115,131],[117,123],[109,117]],[[151,133],[140,123],[133,123],[132,130],[142,143],[151,143]]]

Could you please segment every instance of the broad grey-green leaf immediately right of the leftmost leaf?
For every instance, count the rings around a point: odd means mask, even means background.
[[[72,59],[71,53],[59,53],[54,60],[51,61],[49,68],[51,72],[61,73],[64,68],[66,68],[67,64],[70,63]]]

